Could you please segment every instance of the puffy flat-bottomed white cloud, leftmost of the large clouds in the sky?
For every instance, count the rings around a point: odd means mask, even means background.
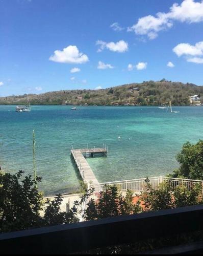
[[[82,64],[89,59],[87,55],[79,52],[77,46],[68,46],[63,51],[54,51],[54,54],[49,57],[49,60],[60,63]]]

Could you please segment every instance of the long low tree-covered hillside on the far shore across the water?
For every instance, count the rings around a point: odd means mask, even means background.
[[[134,89],[136,88],[136,89]],[[159,105],[171,100],[173,105],[189,105],[189,96],[203,99],[203,87],[192,83],[143,81],[101,90],[71,90],[29,94],[31,104],[88,104],[88,105]],[[0,97],[0,104],[24,105],[27,95]]]

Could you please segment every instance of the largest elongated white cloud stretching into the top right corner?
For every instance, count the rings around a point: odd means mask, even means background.
[[[148,15],[138,19],[138,22],[127,31],[134,31],[138,35],[147,35],[155,39],[158,32],[173,26],[174,20],[187,23],[197,23],[203,20],[203,1],[184,0],[180,5],[173,4],[167,13],[159,12],[156,16]]]

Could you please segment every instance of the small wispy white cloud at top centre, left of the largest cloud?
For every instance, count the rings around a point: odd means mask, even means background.
[[[96,45],[99,45],[97,52],[102,52],[105,48],[113,52],[126,52],[128,51],[128,42],[120,40],[118,42],[105,42],[97,40]]]

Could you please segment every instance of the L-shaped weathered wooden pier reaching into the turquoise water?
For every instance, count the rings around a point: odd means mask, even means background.
[[[70,151],[84,182],[92,185],[99,184],[85,157],[95,157],[101,154],[107,157],[107,151],[106,146],[104,148],[81,148]]]

